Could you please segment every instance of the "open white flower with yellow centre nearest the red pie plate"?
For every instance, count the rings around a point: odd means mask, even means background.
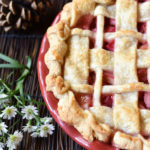
[[[54,126],[52,124],[45,124],[40,127],[40,136],[47,137],[47,134],[53,134]]]

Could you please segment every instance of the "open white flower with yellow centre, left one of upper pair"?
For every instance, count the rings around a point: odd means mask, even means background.
[[[4,118],[4,119],[8,119],[10,120],[11,118],[16,116],[16,111],[17,109],[14,106],[7,106],[7,108],[5,108],[2,111],[2,114],[0,115],[0,117]]]

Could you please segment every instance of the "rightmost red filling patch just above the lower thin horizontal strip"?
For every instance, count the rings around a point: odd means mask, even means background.
[[[137,75],[138,75],[138,80],[139,82],[144,82],[145,84],[148,84],[148,79],[147,79],[147,69],[138,69],[137,70]]]

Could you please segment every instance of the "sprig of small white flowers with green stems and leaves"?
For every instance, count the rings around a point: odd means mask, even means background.
[[[5,79],[0,78],[0,150],[7,146],[10,150],[16,149],[17,145],[23,139],[21,131],[15,131],[11,134],[11,130],[16,127],[19,120],[16,115],[27,120],[22,131],[31,133],[32,137],[47,137],[52,134],[54,126],[51,117],[40,117],[40,106],[43,102],[38,102],[31,98],[29,94],[24,92],[25,80],[30,74],[32,65],[31,58],[26,57],[26,65],[20,64],[2,53],[0,59],[5,63],[0,64],[0,69],[13,69]],[[20,72],[20,76],[13,82],[9,82],[16,74],[16,70]],[[8,128],[6,120],[15,118],[15,122]]]

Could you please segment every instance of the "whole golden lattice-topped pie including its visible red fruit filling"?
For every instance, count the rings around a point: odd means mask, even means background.
[[[150,149],[150,1],[73,0],[50,27],[46,89],[88,141]]]

